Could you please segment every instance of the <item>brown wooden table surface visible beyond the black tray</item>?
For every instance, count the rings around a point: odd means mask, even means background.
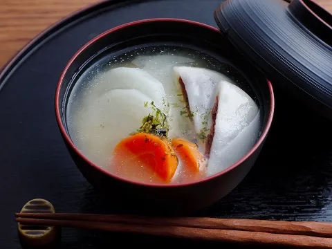
[[[0,68],[31,39],[98,0],[0,0]],[[332,12],[332,0],[313,0]]]

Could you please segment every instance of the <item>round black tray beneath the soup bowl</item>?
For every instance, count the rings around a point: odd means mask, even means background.
[[[111,198],[100,196],[75,167],[55,120],[57,80],[80,46],[109,28],[154,17],[191,19],[216,26],[213,11],[222,2],[98,3],[46,30],[3,69],[0,75],[1,248],[21,248],[14,213],[30,199],[47,199],[57,212],[138,212],[130,205],[113,203]],[[285,100],[281,93],[276,97],[273,127],[250,174],[228,196],[196,216],[332,221],[331,123]],[[107,248],[113,243],[170,246],[174,242],[190,243],[64,229],[59,248]]]

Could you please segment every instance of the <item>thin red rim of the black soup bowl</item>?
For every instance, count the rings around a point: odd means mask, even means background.
[[[268,131],[270,130],[270,126],[271,126],[271,123],[272,123],[272,120],[273,120],[273,114],[274,114],[274,111],[275,111],[275,97],[274,97],[274,93],[273,93],[272,84],[269,80],[266,79],[266,83],[268,84],[268,91],[270,93],[270,112],[268,113],[268,121],[266,123],[266,127],[264,128],[263,132],[261,133],[261,136],[259,137],[259,140],[250,149],[250,151],[248,151],[248,153],[245,156],[243,156],[242,158],[237,160],[236,163],[234,163],[233,165],[231,165],[227,169],[224,169],[223,171],[221,171],[217,174],[205,177],[205,178],[203,178],[199,181],[192,181],[190,183],[179,183],[179,184],[176,184],[176,183],[157,184],[157,183],[141,183],[141,182],[131,181],[129,179],[119,177],[116,174],[112,174],[111,172],[108,172],[107,170],[103,169],[102,167],[96,165],[91,160],[89,160],[89,158],[84,156],[84,154],[80,151],[80,149],[77,149],[77,147],[75,146],[75,144],[73,143],[73,141],[69,137],[68,133],[64,129],[64,125],[62,123],[62,118],[61,118],[60,110],[59,110],[60,89],[61,89],[61,86],[62,86],[62,82],[64,80],[64,75],[66,75],[66,72],[68,71],[68,68],[74,62],[76,57],[80,53],[82,53],[83,50],[85,50],[87,47],[89,47],[91,44],[93,44],[95,41],[97,41],[98,39],[104,37],[105,35],[108,35],[109,33],[113,33],[116,30],[120,30],[122,28],[127,28],[129,26],[144,24],[144,23],[147,23],[147,22],[155,22],[155,21],[178,21],[178,22],[181,22],[181,23],[187,23],[187,24],[192,24],[192,25],[196,25],[196,26],[201,26],[203,28],[208,28],[208,29],[210,29],[214,32],[220,33],[219,29],[214,28],[212,26],[209,26],[208,24],[202,24],[202,23],[197,22],[197,21],[190,21],[190,20],[186,20],[186,19],[174,19],[174,18],[156,18],[156,19],[142,19],[140,21],[132,21],[132,22],[127,23],[127,24],[122,24],[120,26],[117,26],[116,28],[111,28],[110,30],[105,31],[104,33],[98,35],[94,39],[91,39],[90,42],[88,42],[87,44],[82,46],[82,48],[80,48],[80,50],[78,50],[75,53],[75,55],[73,55],[73,57],[69,60],[68,64],[64,68],[64,71],[62,72],[62,75],[59,78],[59,82],[57,83],[57,89],[56,89],[56,93],[55,93],[55,113],[56,113],[57,123],[59,124],[59,129],[60,129],[62,135],[64,136],[64,139],[66,140],[66,142],[68,142],[68,145],[70,145],[71,148],[75,151],[75,153],[78,154],[81,158],[83,158],[83,160],[85,160],[86,163],[88,163],[91,167],[95,167],[95,169],[97,169],[102,174],[106,174],[107,176],[111,176],[113,178],[116,178],[118,181],[124,181],[124,182],[130,183],[130,184],[133,184],[133,185],[143,185],[143,186],[147,186],[147,187],[181,187],[181,186],[186,186],[186,185],[194,185],[194,184],[198,184],[198,183],[203,183],[205,181],[210,181],[211,179],[217,178],[217,177],[219,177],[219,176],[221,176],[221,175],[223,175],[227,172],[230,172],[232,169],[234,169],[234,168],[238,167],[239,165],[241,165],[241,163],[243,163],[250,156],[252,156],[252,154],[254,154],[254,152],[258,149],[258,147],[261,145],[261,143],[264,142],[264,139],[266,138],[266,136],[268,135]]]

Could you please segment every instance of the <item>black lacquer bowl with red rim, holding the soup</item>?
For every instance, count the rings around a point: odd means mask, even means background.
[[[246,78],[246,87],[259,101],[262,116],[261,136],[255,146],[223,172],[189,184],[142,184],[128,181],[111,174],[95,165],[77,149],[66,127],[68,96],[75,84],[75,78],[89,66],[96,57],[112,53],[125,53],[133,46],[167,44],[187,46],[213,55],[216,59],[227,60],[241,77]],[[266,77],[255,66],[248,64],[222,35],[220,30],[194,21],[181,19],[147,19],[118,26],[99,35],[83,46],[68,62],[59,80],[56,92],[55,110],[59,129],[64,142],[85,178],[95,187],[109,192],[109,198],[131,201],[148,210],[162,212],[192,212],[210,205],[234,189],[249,172],[261,151],[274,113],[273,89]],[[131,204],[132,205],[132,204]],[[143,209],[144,209],[143,208]]]

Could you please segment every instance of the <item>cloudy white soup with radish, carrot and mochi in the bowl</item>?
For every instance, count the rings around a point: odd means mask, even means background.
[[[227,61],[178,46],[109,55],[76,80],[69,135],[93,163],[142,183],[217,174],[259,138],[261,111]]]

